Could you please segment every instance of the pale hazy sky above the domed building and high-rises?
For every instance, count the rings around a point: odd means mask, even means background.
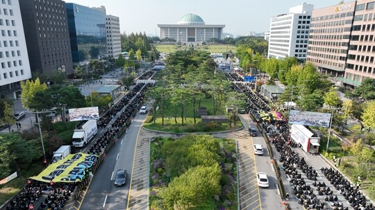
[[[145,32],[160,35],[158,24],[177,24],[186,14],[199,15],[206,24],[224,24],[224,33],[249,35],[267,32],[276,15],[303,2],[324,8],[340,0],[65,0],[82,6],[105,6],[107,15],[119,17],[121,33]],[[349,1],[346,1],[349,2]]]

